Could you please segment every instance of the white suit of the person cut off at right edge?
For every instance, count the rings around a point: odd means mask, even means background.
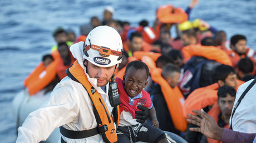
[[[237,90],[237,95],[235,95],[235,104],[237,104],[238,99],[243,94],[244,90],[252,83],[254,79],[247,81],[246,83],[239,86]],[[256,84],[245,94],[237,110],[235,110],[232,121],[232,129],[234,131],[245,132],[245,133],[255,133],[256,132]],[[234,110],[232,109],[232,113]]]

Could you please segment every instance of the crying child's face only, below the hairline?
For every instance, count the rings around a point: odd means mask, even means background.
[[[146,69],[135,69],[130,67],[124,76],[125,91],[133,98],[138,95],[147,85]]]

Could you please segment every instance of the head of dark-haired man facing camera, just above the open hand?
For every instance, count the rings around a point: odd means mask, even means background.
[[[224,116],[230,116],[232,113],[232,108],[235,101],[235,91],[234,88],[228,85],[224,85],[218,90],[218,100],[217,104],[219,105],[221,114]]]

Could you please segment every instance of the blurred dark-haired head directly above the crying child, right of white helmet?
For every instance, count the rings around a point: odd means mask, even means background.
[[[130,35],[130,50],[132,53],[142,50],[142,35],[139,32],[132,32]]]

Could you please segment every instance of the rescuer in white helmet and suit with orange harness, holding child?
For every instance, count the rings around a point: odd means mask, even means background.
[[[119,96],[115,69],[122,61],[122,40],[114,28],[99,26],[85,42],[70,48],[77,59],[40,109],[18,128],[16,142],[40,142],[60,127],[59,142],[116,142]],[[111,80],[111,81],[110,81]],[[119,99],[119,100],[118,100]],[[145,121],[148,110],[137,117]]]

